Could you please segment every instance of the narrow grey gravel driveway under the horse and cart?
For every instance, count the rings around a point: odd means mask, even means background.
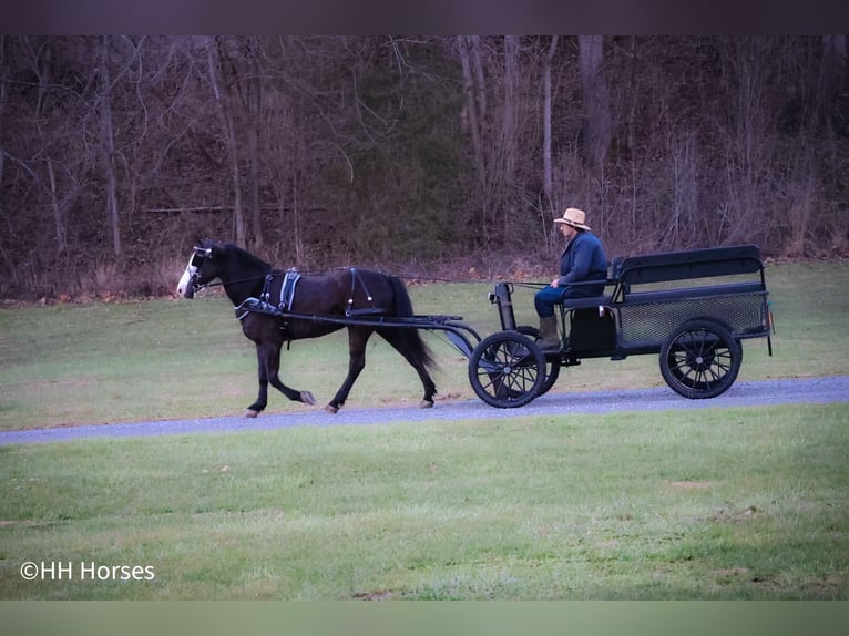
[[[551,392],[519,409],[494,409],[478,399],[451,402],[437,401],[433,409],[413,407],[358,409],[355,404],[340,410],[336,416],[325,412],[320,407],[313,407],[294,413],[266,413],[254,420],[227,417],[8,431],[0,432],[0,444],[55,442],[82,438],[268,430],[303,425],[356,425],[426,420],[457,421],[525,416],[570,416],[616,411],[666,411],[847,401],[849,401],[849,376],[835,376],[736,382],[727,392],[710,400],[687,400],[668,388],[662,387],[632,391]]]

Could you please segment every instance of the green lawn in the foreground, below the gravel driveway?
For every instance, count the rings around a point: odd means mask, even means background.
[[[849,598],[849,406],[0,448],[0,598]],[[25,561],[73,578],[22,581]],[[82,565],[150,581],[82,581]],[[146,571],[145,571],[146,572]]]

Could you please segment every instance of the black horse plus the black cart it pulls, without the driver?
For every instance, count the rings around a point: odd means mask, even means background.
[[[529,403],[551,389],[561,367],[582,359],[624,360],[645,353],[659,353],[661,375],[681,396],[714,398],[737,378],[743,340],[767,338],[773,352],[764,264],[754,245],[615,258],[603,281],[610,294],[569,299],[561,307],[562,340],[554,352],[536,345],[536,328],[516,325],[511,283],[497,283],[489,295],[501,330],[481,338],[460,316],[415,315],[403,284],[376,271],[349,268],[304,276],[299,283],[300,275],[293,270],[274,270],[233,245],[205,242],[194,248],[177,294],[191,298],[214,278],[222,280],[243,331],[257,346],[259,394],[247,409],[250,416],[265,409],[268,383],[289,399],[314,403],[309,391],[279,381],[282,345],[344,327],[351,361],[348,377],[328,403],[334,412],[365,366],[372,332],[416,368],[424,407],[433,404],[436,387],[427,371],[432,359],[417,334],[422,330],[448,337],[469,359],[475,394],[498,408]],[[602,281],[587,284],[597,283]]]

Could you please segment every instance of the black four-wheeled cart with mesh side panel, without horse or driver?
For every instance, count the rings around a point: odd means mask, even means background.
[[[535,328],[515,325],[512,286],[498,283],[490,300],[502,331],[484,338],[469,359],[478,397],[493,407],[521,407],[551,389],[561,367],[659,353],[661,375],[675,392],[714,398],[737,378],[743,340],[767,338],[773,353],[764,264],[754,245],[615,258],[607,289],[561,307],[562,347],[550,353],[535,345]]]

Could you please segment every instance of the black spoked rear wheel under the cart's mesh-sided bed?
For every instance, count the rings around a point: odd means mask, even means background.
[[[737,379],[740,343],[714,320],[688,320],[661,349],[661,375],[673,391],[691,400],[715,398]]]

